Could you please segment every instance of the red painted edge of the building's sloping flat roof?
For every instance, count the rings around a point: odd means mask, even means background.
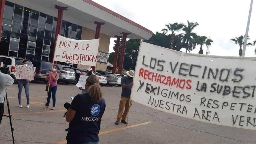
[[[83,1],[93,5],[95,7],[98,7],[99,9],[101,9],[101,10],[103,10],[105,12],[108,12],[108,13],[112,14],[113,16],[116,16],[119,19],[122,19],[122,20],[124,20],[124,21],[126,21],[126,22],[128,22],[128,23],[130,23],[130,24],[132,24],[134,26],[137,26],[138,28],[140,28],[140,29],[142,29],[142,30],[144,30],[144,31],[146,31],[146,32],[148,32],[148,33],[153,35],[153,32],[151,30],[149,30],[149,29],[147,29],[147,28],[145,28],[145,27],[135,23],[134,21],[131,21],[131,20],[127,19],[126,17],[124,17],[124,16],[122,16],[122,15],[116,13],[116,12],[113,12],[113,11],[109,10],[108,8],[106,8],[104,6],[101,6],[100,4],[98,4],[98,3],[96,3],[96,2],[94,2],[92,0],[83,0]]]

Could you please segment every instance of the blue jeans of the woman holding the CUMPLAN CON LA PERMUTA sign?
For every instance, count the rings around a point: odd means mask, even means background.
[[[22,93],[22,88],[25,88],[25,93],[27,97],[27,104],[29,105],[29,81],[28,80],[19,80],[18,82],[18,87],[19,87],[19,93],[18,93],[18,99],[19,99],[19,104],[21,104],[21,93]]]

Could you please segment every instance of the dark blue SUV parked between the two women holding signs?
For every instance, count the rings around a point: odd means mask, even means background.
[[[36,67],[36,75],[34,81],[42,80],[45,82],[45,78],[52,70],[52,63],[46,61],[31,60],[34,67]]]

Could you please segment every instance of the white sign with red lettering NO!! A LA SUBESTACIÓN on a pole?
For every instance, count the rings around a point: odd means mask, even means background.
[[[96,66],[99,39],[76,40],[58,35],[54,61]]]

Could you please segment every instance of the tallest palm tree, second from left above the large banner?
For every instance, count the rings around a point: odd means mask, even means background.
[[[199,24],[198,23],[194,23],[194,22],[190,22],[187,20],[187,25],[186,24],[182,24],[183,28],[182,30],[184,31],[184,33],[182,33],[182,39],[183,39],[183,45],[185,45],[186,48],[186,52],[188,51],[192,51],[193,49],[196,48],[196,42],[195,42],[195,38],[196,38],[196,33],[193,33],[193,29],[196,28]]]

